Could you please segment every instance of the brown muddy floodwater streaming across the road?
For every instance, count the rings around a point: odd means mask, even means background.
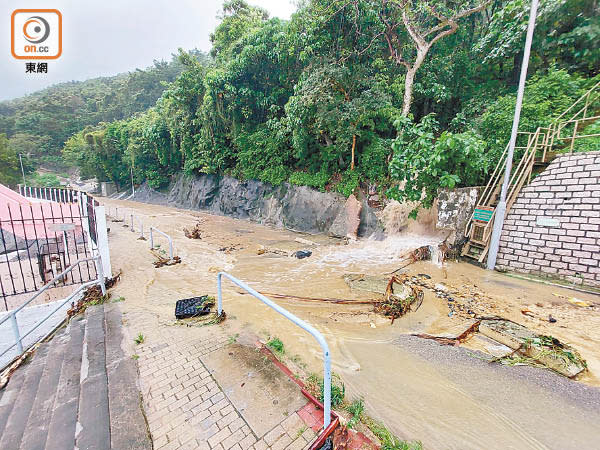
[[[150,312],[165,329],[173,326],[177,299],[216,294],[219,270],[262,292],[369,299],[368,293],[351,291],[341,275],[390,272],[406,251],[439,239],[405,235],[344,245],[324,236],[197,212],[132,202],[106,204],[135,211],[146,228],[152,224],[174,238],[182,263],[154,269],[148,242],[136,240],[120,223],[110,225],[113,267],[123,269],[115,295],[126,298],[126,311]],[[198,221],[202,239],[185,238],[182,228]],[[307,247],[296,238],[317,245]],[[159,242],[166,248],[166,242]],[[313,255],[303,260],[268,252],[258,255],[257,250],[265,247],[286,252],[310,249]],[[418,311],[394,325],[367,305],[276,301],[325,335],[333,369],[343,379],[347,396],[362,396],[368,412],[403,438],[419,439],[428,449],[597,448],[600,394],[591,386],[599,384],[600,314],[597,308],[581,309],[566,299],[576,296],[597,303],[598,297],[490,274],[468,264],[450,263],[445,272],[429,262],[409,268],[409,273],[427,273],[436,282],[485,292],[491,314],[572,343],[587,359],[590,374],[571,381],[540,369],[490,365],[470,356],[467,349],[407,338],[408,333],[443,332],[461,323],[449,318],[446,303],[430,292]],[[232,335],[247,328],[262,337],[278,336],[288,356],[297,355],[306,370],[322,370],[320,349],[310,335],[228,282],[224,288],[229,317],[224,326]],[[534,317],[523,316],[524,308]],[[555,324],[548,323],[548,314],[557,319]]]

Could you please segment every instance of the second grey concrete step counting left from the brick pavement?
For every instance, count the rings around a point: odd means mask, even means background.
[[[75,439],[79,450],[110,449],[108,377],[104,344],[104,305],[86,309],[86,329],[81,363],[79,427]]]

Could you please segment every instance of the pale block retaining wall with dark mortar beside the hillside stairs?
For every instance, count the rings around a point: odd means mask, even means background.
[[[600,152],[559,156],[521,191],[497,268],[600,287]]]

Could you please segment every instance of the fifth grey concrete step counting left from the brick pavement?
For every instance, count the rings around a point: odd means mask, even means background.
[[[0,448],[18,449],[35,401],[49,347],[41,345],[26,363],[25,378],[0,438]]]

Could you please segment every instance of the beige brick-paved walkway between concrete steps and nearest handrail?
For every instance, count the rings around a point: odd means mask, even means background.
[[[306,400],[298,403],[292,392],[292,400],[282,394],[283,404],[277,400],[272,401],[272,406],[261,403],[261,367],[246,370],[246,381],[236,386],[220,386],[217,380],[228,383],[234,378],[223,368],[215,370],[215,361],[222,360],[220,355],[235,358],[240,348],[249,348],[234,344],[220,326],[173,326],[166,330],[157,326],[149,313],[131,311],[125,317],[131,336],[142,333],[147,337],[135,351],[155,449],[302,450],[316,437],[310,428],[313,424],[307,424],[297,413],[306,408]],[[240,361],[237,368],[242,366]],[[272,379],[269,381],[273,383]],[[280,388],[284,383],[276,380],[275,384],[275,388]],[[245,399],[239,394],[242,388]],[[288,412],[290,405],[292,410]],[[265,424],[274,426],[266,429]]]

